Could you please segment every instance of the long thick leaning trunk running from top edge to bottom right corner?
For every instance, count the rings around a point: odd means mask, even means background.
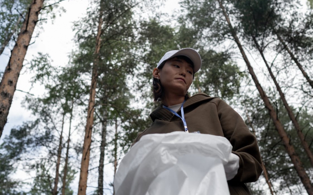
[[[269,115],[270,115],[271,119],[273,120],[273,123],[276,127],[276,130],[278,131],[278,134],[280,135],[280,138],[281,138],[281,140],[285,146],[286,151],[288,152],[288,154],[290,156],[292,163],[295,166],[295,170],[297,171],[297,173],[298,173],[306,191],[308,192],[308,194],[313,195],[313,187],[312,187],[312,183],[310,181],[310,178],[306,174],[306,172],[302,166],[302,163],[300,161],[299,156],[295,153],[295,149],[294,149],[293,145],[290,144],[290,139],[289,139],[288,135],[286,134],[283,125],[280,123],[279,119],[277,118],[277,114],[275,112],[275,109],[271,105],[269,98],[266,96],[263,88],[261,87],[261,85],[260,85],[260,83],[259,83],[259,81],[258,81],[258,79],[254,73],[254,70],[253,70],[252,66],[250,65],[250,62],[249,62],[249,60],[248,60],[248,58],[244,52],[244,49],[243,49],[242,45],[240,44],[240,41],[237,37],[237,34],[236,34],[235,30],[233,29],[233,26],[230,23],[230,20],[228,18],[228,14],[226,13],[226,10],[225,10],[221,0],[218,0],[218,3],[219,3],[219,6],[220,6],[225,18],[226,18],[226,21],[228,23],[228,27],[231,31],[231,34],[232,34],[232,36],[233,36],[233,38],[234,38],[234,40],[238,46],[243,58],[244,58],[244,61],[248,67],[250,75],[252,76],[252,79],[255,83],[255,86],[259,91],[259,94],[260,94],[260,96],[261,96],[261,98],[265,104],[265,107],[269,110]]]

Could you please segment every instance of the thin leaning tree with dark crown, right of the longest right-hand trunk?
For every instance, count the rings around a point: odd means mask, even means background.
[[[243,36],[244,37],[250,36],[251,37],[250,39],[252,40],[254,46],[259,51],[267,67],[267,70],[269,71],[269,75],[272,78],[277,88],[277,91],[280,94],[280,98],[285,105],[288,116],[290,117],[290,120],[295,126],[295,130],[299,135],[300,142],[306,154],[308,155],[311,165],[313,167],[313,154],[310,151],[308,143],[305,141],[305,136],[300,129],[300,125],[295,117],[295,114],[290,108],[290,105],[288,104],[285,98],[285,94],[283,93],[279,83],[277,82],[277,79],[275,78],[273,74],[272,69],[270,68],[264,56],[264,50],[266,49],[266,46],[268,45],[268,43],[265,42],[266,41],[265,38],[269,36],[271,29],[275,28],[276,21],[279,20],[277,19],[277,17],[279,16],[275,14],[275,10],[274,10],[274,9],[277,9],[278,4],[279,3],[277,1],[267,1],[266,3],[264,1],[240,1],[240,3],[236,2],[234,6],[241,15],[241,17],[239,17],[238,19],[240,20],[241,26],[243,27],[243,33],[244,33]],[[244,17],[242,17],[243,15]],[[313,87],[313,81],[312,81],[312,87]]]

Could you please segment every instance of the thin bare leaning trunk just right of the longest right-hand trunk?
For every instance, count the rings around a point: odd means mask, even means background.
[[[295,115],[294,115],[294,113],[292,112],[292,110],[291,110],[289,104],[287,103],[287,100],[286,100],[286,98],[285,98],[285,94],[282,92],[282,90],[281,90],[281,88],[280,88],[278,82],[276,81],[276,78],[275,78],[275,76],[274,76],[274,74],[273,74],[271,68],[269,67],[269,65],[268,65],[268,63],[267,63],[267,61],[266,61],[266,59],[265,59],[265,57],[264,57],[263,51],[262,51],[262,49],[260,48],[259,43],[258,43],[257,40],[255,39],[255,37],[252,37],[252,38],[253,38],[254,44],[256,45],[257,49],[259,50],[259,52],[260,52],[260,54],[261,54],[261,56],[262,56],[262,58],[263,58],[263,61],[264,61],[265,65],[266,65],[266,67],[267,67],[267,70],[269,71],[269,74],[270,74],[271,78],[273,79],[273,81],[274,81],[274,83],[275,83],[275,86],[276,86],[276,88],[277,88],[277,91],[279,92],[280,98],[281,98],[281,100],[283,101],[284,106],[285,106],[285,108],[286,108],[286,110],[287,110],[288,116],[289,116],[289,118],[291,119],[292,123],[293,123],[294,126],[295,126],[295,130],[297,131],[297,134],[298,134],[298,136],[299,136],[299,138],[300,138],[300,142],[301,142],[301,144],[302,144],[302,146],[303,146],[303,148],[304,148],[305,153],[306,153],[306,154],[308,155],[308,157],[309,157],[311,166],[313,167],[313,154],[312,154],[312,152],[311,152],[311,150],[310,150],[310,148],[309,148],[308,143],[305,141],[305,136],[303,135],[303,133],[302,133],[302,131],[301,131],[301,129],[300,129],[300,125],[299,125],[297,119],[295,118]]]

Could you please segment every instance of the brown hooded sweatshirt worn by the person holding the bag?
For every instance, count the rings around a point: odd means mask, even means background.
[[[189,133],[199,131],[226,137],[233,145],[233,153],[239,156],[237,175],[228,181],[231,195],[248,195],[247,182],[255,182],[262,173],[261,156],[257,140],[240,115],[223,100],[198,93],[184,103],[184,115]],[[177,111],[181,115],[181,111]],[[158,107],[151,114],[153,121],[148,129],[138,133],[135,144],[141,136],[152,133],[184,131],[182,119],[166,108]]]

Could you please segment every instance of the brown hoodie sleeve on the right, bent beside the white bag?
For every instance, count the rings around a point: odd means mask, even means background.
[[[218,100],[218,101],[217,101]],[[262,160],[255,136],[241,116],[223,100],[213,100],[224,136],[233,145],[233,153],[239,156],[239,169],[231,182],[255,182],[262,173]]]

